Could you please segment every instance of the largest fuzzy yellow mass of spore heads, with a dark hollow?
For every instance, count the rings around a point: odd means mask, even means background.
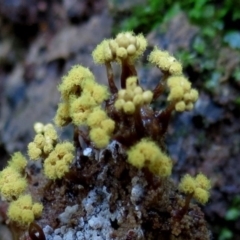
[[[87,68],[76,65],[63,77],[58,89],[62,102],[54,119],[56,125],[63,127],[72,122],[75,126],[89,126],[95,146],[106,147],[115,126],[101,109],[109,97],[107,87],[98,84]]]

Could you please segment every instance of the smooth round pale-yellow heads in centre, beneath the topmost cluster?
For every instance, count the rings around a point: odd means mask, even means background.
[[[152,101],[153,93],[137,85],[136,77],[129,77],[126,82],[126,89],[118,91],[118,98],[115,102],[117,110],[123,110],[126,114],[133,114],[136,107],[149,104]]]

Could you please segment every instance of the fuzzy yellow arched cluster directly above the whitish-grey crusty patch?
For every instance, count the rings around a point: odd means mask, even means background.
[[[128,152],[128,162],[137,168],[148,167],[161,177],[167,177],[172,172],[171,159],[161,149],[148,139],[142,139]]]

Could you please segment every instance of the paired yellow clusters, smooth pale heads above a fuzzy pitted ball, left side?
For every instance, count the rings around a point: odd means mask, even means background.
[[[49,179],[62,178],[70,170],[74,159],[74,146],[71,142],[59,142],[52,124],[34,125],[36,136],[28,144],[31,160],[43,159],[44,174]]]

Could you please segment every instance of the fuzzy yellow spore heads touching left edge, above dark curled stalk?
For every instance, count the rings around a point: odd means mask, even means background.
[[[8,162],[8,166],[0,172],[1,196],[10,202],[7,216],[21,227],[28,226],[35,218],[40,217],[43,210],[41,203],[33,203],[27,191],[25,177],[26,158],[16,152]]]

